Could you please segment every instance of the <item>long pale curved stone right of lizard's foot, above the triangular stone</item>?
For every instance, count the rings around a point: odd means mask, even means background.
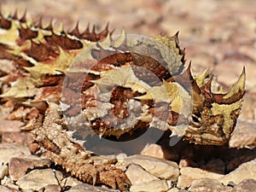
[[[155,177],[177,181],[179,170],[176,162],[170,160],[160,160],[154,157],[136,154],[127,157],[124,160],[119,160],[118,164],[121,166],[129,166],[131,163],[142,166],[143,169]]]

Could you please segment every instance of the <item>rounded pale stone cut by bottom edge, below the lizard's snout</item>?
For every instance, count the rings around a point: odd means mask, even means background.
[[[223,191],[230,192],[232,190],[231,187],[224,186],[216,179],[211,178],[200,178],[198,180],[193,181],[191,186],[189,187],[189,191],[198,192],[198,191]]]

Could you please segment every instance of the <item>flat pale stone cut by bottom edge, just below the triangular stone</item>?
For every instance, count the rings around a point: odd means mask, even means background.
[[[163,192],[169,189],[166,180],[154,180],[146,183],[135,184],[131,186],[131,192]]]

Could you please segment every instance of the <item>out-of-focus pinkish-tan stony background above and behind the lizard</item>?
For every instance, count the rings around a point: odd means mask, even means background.
[[[109,29],[154,36],[179,32],[181,48],[194,73],[206,68],[227,88],[236,82],[242,67],[247,71],[247,96],[241,118],[256,113],[256,1],[255,0],[2,0],[3,15],[15,13],[45,25],[54,19],[70,31],[79,20],[83,31],[90,23]]]

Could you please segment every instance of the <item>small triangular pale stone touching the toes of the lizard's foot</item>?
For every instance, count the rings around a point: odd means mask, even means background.
[[[149,172],[146,172],[141,166],[138,166],[136,164],[131,164],[125,174],[131,181],[132,185],[146,183],[153,180],[159,180],[158,177],[151,175]]]

